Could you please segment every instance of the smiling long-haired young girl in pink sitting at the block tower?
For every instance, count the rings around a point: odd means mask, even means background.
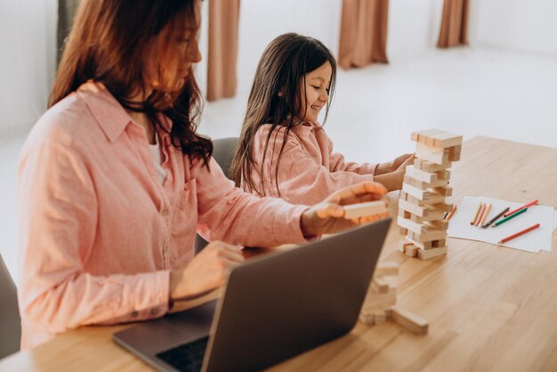
[[[324,44],[294,33],[278,36],[255,72],[232,165],[244,190],[291,203],[317,203],[356,182],[399,190],[411,154],[384,164],[345,163],[318,123],[335,90],[336,62]],[[351,133],[357,135],[357,133]]]

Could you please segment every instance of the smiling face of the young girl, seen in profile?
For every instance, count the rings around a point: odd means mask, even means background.
[[[300,82],[302,102],[301,112],[298,112],[297,115],[299,119],[309,122],[317,121],[319,111],[327,105],[329,99],[328,92],[332,74],[333,67],[328,61],[318,69],[305,74],[305,82],[304,79]]]

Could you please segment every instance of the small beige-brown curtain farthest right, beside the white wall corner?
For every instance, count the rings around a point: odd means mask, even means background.
[[[439,33],[439,48],[468,44],[468,0],[445,0]]]

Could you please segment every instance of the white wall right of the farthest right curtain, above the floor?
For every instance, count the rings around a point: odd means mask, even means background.
[[[557,1],[472,0],[478,44],[557,55]]]

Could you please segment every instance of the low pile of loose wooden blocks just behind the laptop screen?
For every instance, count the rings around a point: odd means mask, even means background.
[[[383,324],[392,320],[417,335],[426,335],[427,321],[395,306],[397,303],[395,281],[398,275],[398,263],[377,264],[374,279],[367,289],[366,299],[359,312],[359,319],[367,325]]]

